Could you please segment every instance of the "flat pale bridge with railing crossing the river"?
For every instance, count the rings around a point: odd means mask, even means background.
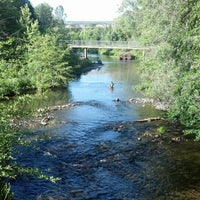
[[[145,50],[150,47],[142,46],[132,41],[94,41],[94,40],[74,40],[69,41],[71,48],[83,48],[85,58],[87,58],[87,49],[127,49],[127,50]]]

